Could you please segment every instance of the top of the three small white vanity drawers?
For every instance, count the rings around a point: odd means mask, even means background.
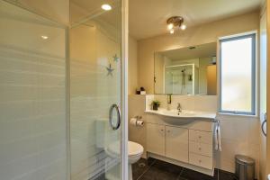
[[[212,144],[212,132],[189,130],[189,140],[205,144]]]

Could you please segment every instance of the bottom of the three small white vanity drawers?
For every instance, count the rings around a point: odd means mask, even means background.
[[[212,157],[205,157],[189,153],[189,163],[195,166],[202,166],[207,169],[212,169]]]

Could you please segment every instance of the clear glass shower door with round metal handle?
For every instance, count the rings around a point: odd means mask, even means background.
[[[121,179],[121,1],[106,4],[70,1],[72,180]]]

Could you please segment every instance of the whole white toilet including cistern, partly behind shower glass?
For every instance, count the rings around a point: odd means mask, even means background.
[[[98,119],[95,121],[95,129],[100,132],[96,136],[95,145],[96,148],[103,148],[105,153],[112,158],[120,157],[120,141],[118,140],[118,132],[110,130],[107,119]],[[131,165],[136,163],[143,153],[143,147],[132,141],[128,141],[129,150],[129,179],[132,180],[132,168]],[[118,171],[118,169],[116,169]],[[113,170],[112,170],[113,171]],[[113,172],[112,172],[113,174]],[[118,174],[118,173],[115,173]],[[109,175],[109,173],[108,173]],[[113,175],[112,175],[113,176]],[[107,178],[114,179],[114,178]],[[117,178],[115,178],[117,179]]]

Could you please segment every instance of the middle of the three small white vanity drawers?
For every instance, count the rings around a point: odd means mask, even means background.
[[[212,145],[190,141],[189,152],[207,157],[212,157]]]

